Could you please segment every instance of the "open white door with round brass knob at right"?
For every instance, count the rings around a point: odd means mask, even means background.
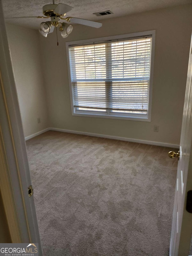
[[[178,106],[178,108],[181,106]],[[177,110],[175,110],[177,111]],[[190,46],[187,85],[177,169],[170,256],[187,256],[192,232],[192,213],[187,212],[187,192],[192,190],[192,41]],[[175,159],[175,161],[177,161]],[[190,193],[190,192],[189,192]],[[189,194],[188,193],[188,194]],[[192,205],[192,202],[190,202]]]

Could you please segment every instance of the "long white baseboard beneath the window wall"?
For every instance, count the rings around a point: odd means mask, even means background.
[[[117,136],[110,136],[110,135],[105,135],[105,134],[65,130],[65,129],[58,129],[58,128],[49,128],[49,130],[82,134],[82,135],[87,135],[87,136],[101,137],[101,138],[107,138],[107,139],[113,139],[113,140],[125,140],[125,141],[129,141],[129,142],[143,143],[143,144],[156,145],[156,146],[164,146],[164,147],[169,147],[169,148],[179,148],[179,145],[176,145],[176,144],[157,142],[157,141],[151,141],[151,140],[138,140],[138,139],[125,138],[125,137],[117,137]]]

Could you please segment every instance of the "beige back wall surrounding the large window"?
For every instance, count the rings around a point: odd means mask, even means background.
[[[103,20],[100,29],[76,25],[63,39],[40,35],[50,127],[179,144],[192,31],[192,5]],[[151,122],[71,115],[66,41],[156,30]],[[154,132],[159,125],[159,132]]]

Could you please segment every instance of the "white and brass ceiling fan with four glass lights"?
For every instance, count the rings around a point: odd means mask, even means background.
[[[29,17],[11,17],[7,19],[15,19],[15,18],[42,18],[42,19],[49,19],[49,21],[42,22],[40,25],[39,32],[44,37],[47,37],[49,33],[52,33],[54,28],[59,27],[59,31],[61,32],[62,38],[66,38],[73,30],[73,26],[71,24],[68,24],[66,22],[72,22],[76,24],[82,24],[85,26],[90,26],[93,28],[100,28],[102,26],[102,23],[92,21],[92,20],[84,20],[80,18],[74,18],[74,17],[66,17],[67,12],[71,11],[73,7],[65,4],[59,3],[58,5],[55,5],[55,0],[53,0],[53,3],[51,5],[44,5],[43,6],[43,14],[44,16],[29,16]],[[63,23],[60,22],[60,20],[64,20]],[[57,40],[58,45],[58,40]]]

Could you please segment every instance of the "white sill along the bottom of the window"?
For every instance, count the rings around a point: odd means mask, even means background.
[[[123,120],[132,120],[132,121],[144,121],[144,122],[151,122],[151,117],[149,115],[145,116],[136,116],[136,115],[129,115],[129,116],[119,116],[119,115],[107,115],[101,113],[82,113],[82,112],[75,112],[72,113],[72,116],[86,116],[86,117],[99,117],[99,118],[110,118],[110,119],[123,119]]]

